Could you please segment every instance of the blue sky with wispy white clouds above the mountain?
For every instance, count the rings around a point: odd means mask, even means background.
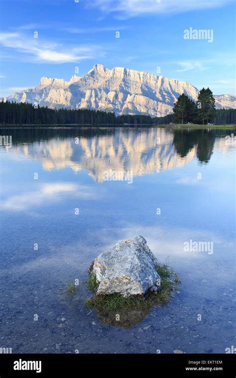
[[[96,63],[236,95],[235,15],[235,0],[0,0],[0,96]]]

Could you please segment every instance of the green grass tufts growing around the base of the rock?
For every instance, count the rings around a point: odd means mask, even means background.
[[[161,287],[157,293],[147,293],[145,296],[132,295],[124,297],[118,293],[111,295],[95,295],[85,300],[85,306],[102,311],[113,311],[122,309],[145,309],[153,305],[165,305],[169,302],[172,292],[178,288],[181,283],[177,273],[166,264],[158,264],[156,271],[161,277]],[[99,286],[94,273],[92,273],[87,282],[88,288],[96,292]]]

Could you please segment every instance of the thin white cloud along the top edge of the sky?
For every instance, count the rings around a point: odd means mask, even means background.
[[[104,12],[119,12],[126,17],[151,13],[181,13],[196,9],[220,7],[233,0],[92,0]]]

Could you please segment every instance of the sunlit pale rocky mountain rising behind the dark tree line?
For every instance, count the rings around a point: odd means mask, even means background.
[[[198,89],[191,84],[146,72],[96,64],[87,75],[73,75],[70,81],[42,77],[34,89],[8,96],[16,102],[31,102],[51,108],[96,109],[118,114],[164,116],[184,93],[197,99]],[[236,108],[236,96],[216,95],[217,108]]]

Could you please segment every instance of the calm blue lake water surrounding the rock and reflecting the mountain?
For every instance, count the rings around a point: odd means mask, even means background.
[[[0,146],[0,347],[225,353],[236,346],[232,132],[1,129],[12,146]],[[104,181],[110,170],[132,180]],[[127,313],[114,324],[83,305],[91,295],[87,268],[136,235],[182,285],[167,306]],[[208,248],[191,249],[191,240]],[[64,291],[68,279],[79,280],[74,296]]]

